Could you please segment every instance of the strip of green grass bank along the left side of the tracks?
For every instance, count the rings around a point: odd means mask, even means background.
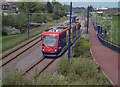
[[[60,20],[58,20],[58,22],[62,22],[65,20],[66,20],[66,18],[61,18]],[[40,34],[43,30],[45,30],[45,29],[47,29],[55,24],[57,24],[56,20],[54,20],[52,22],[48,22],[45,25],[42,25],[34,30],[31,30],[30,31],[30,38]],[[21,42],[23,42],[27,39],[28,39],[27,32],[23,33],[23,34],[3,36],[2,37],[2,51],[5,52],[5,51],[15,47],[16,45],[20,44]]]

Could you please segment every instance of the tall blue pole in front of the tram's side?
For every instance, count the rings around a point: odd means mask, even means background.
[[[72,23],[72,2],[70,2],[70,27],[68,30],[68,60],[70,60],[70,31],[71,31],[71,23]]]

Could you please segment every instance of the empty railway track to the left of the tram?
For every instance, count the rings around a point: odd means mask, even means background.
[[[1,59],[2,65],[0,67],[5,66],[12,60],[16,59],[18,56],[32,48],[34,45],[39,43],[41,41],[41,35],[38,35],[37,37],[33,38],[32,40],[26,42],[25,44],[21,45],[20,47],[16,48],[15,50],[9,52],[8,54],[4,55]]]

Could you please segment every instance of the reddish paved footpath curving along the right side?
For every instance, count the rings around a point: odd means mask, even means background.
[[[94,60],[101,66],[103,72],[112,84],[120,86],[120,54],[102,45],[96,35],[92,21],[89,23],[90,47]],[[118,74],[119,73],[119,74]]]

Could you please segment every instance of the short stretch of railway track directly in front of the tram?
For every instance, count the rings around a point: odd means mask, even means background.
[[[40,58],[39,61],[34,62],[31,66],[29,66],[27,69],[25,69],[24,73],[22,75],[26,75],[28,72],[30,72],[32,69],[34,69],[35,67],[37,67],[38,65],[42,65],[42,63],[44,63],[44,67],[39,67],[40,70],[37,73],[37,75],[35,75],[35,78],[37,78],[42,72],[44,72],[44,70],[46,70],[57,58],[51,58],[51,59],[47,59],[47,58]],[[48,61],[47,63],[45,61]]]

